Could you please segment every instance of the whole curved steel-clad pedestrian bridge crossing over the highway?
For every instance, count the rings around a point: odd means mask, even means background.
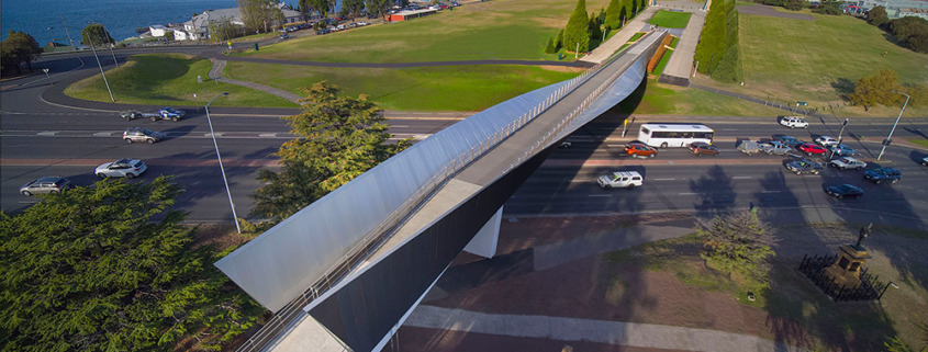
[[[462,250],[494,254],[503,204],[640,84],[666,35],[434,134],[217,261],[275,311],[239,351],[381,350]]]

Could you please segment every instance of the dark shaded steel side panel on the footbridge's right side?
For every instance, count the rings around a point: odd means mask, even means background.
[[[552,148],[543,150],[393,252],[380,257],[337,292],[316,300],[309,314],[351,350],[373,349]],[[368,310],[370,307],[390,308],[374,314]]]

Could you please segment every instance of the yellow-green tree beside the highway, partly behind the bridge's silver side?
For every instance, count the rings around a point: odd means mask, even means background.
[[[280,172],[258,171],[265,185],[251,195],[256,214],[287,218],[409,147],[409,140],[385,144],[389,126],[366,95],[337,93],[326,81],[315,83],[301,100],[303,112],[283,117],[298,138],[275,154],[280,157]]]

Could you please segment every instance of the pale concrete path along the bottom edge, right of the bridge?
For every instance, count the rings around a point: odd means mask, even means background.
[[[680,351],[804,351],[754,336],[716,330],[548,316],[485,314],[435,306],[416,307],[403,326]]]

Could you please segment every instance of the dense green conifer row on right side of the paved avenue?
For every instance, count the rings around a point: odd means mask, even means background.
[[[711,75],[717,81],[743,80],[735,0],[713,1],[694,59],[700,72]]]

